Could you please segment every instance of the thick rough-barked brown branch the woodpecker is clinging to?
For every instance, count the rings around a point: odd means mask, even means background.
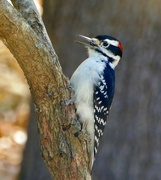
[[[70,98],[68,79],[42,24],[35,28],[20,12],[6,0],[0,1],[0,38],[30,86],[44,160],[54,179],[90,179],[90,140],[83,133],[74,136],[80,128],[75,109],[61,105]]]

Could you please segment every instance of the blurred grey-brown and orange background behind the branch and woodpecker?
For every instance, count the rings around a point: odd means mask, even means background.
[[[94,164],[93,180],[160,180],[161,1],[41,3],[44,23],[68,77],[87,57],[86,50],[74,43],[76,34],[90,37],[108,34],[119,39],[124,47],[116,68],[115,97]],[[16,62],[6,56],[0,54],[0,173],[3,180],[51,180],[40,156],[33,108],[29,113],[29,92],[21,89],[26,86],[25,79]],[[15,74],[19,79],[13,79]],[[21,133],[18,141],[15,135],[11,136],[14,131]],[[22,156],[25,131],[28,141]],[[10,157],[12,154],[15,156]]]

